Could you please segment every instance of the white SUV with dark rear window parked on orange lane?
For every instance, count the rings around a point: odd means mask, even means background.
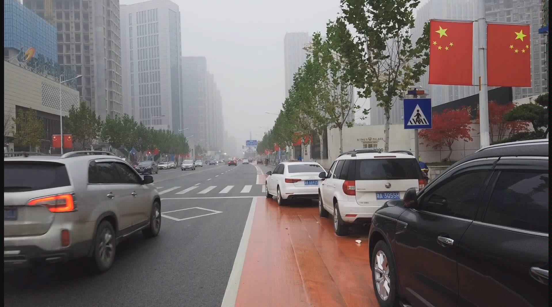
[[[337,235],[347,235],[349,224],[369,224],[374,212],[388,200],[402,199],[409,188],[426,185],[414,156],[350,151],[333,162],[330,172],[320,173],[319,212],[333,215]],[[332,212],[332,213],[330,213]]]

